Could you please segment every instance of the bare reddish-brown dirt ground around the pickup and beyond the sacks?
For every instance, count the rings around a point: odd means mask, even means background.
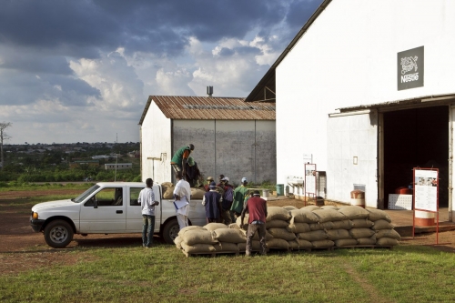
[[[30,227],[30,207],[15,205],[17,198],[36,195],[60,195],[73,193],[68,189],[53,189],[47,191],[15,191],[0,194],[0,275],[17,274],[32,268],[51,265],[74,264],[84,258],[84,253],[68,254],[75,247],[141,247],[140,234],[123,235],[75,235],[74,240],[66,248],[55,249],[45,244],[43,234],[35,233]],[[80,190],[74,190],[75,197]],[[326,202],[326,205],[330,204]],[[284,199],[268,202],[270,206],[303,207],[304,202],[296,199]],[[393,223],[393,222],[392,222]],[[155,237],[156,243],[164,241]],[[435,234],[420,235],[419,237],[403,237],[400,245],[433,245],[436,243]],[[438,246],[432,246],[443,251],[455,252],[455,231],[440,232]]]

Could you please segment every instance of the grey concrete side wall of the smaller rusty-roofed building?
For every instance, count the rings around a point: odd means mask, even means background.
[[[173,138],[173,153],[195,145],[192,157],[204,177],[276,182],[275,121],[175,120]]]

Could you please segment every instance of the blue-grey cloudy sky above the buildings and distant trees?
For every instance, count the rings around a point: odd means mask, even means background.
[[[151,95],[248,96],[322,0],[0,0],[5,144],[138,142]]]

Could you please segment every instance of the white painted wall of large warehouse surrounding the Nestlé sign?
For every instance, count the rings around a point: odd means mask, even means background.
[[[318,170],[328,171],[328,198],[339,197],[329,183],[337,168],[329,166],[328,114],[454,93],[454,36],[455,1],[332,1],[276,69],[278,183],[302,176],[303,154],[313,154]],[[422,45],[424,86],[398,91],[397,53]]]

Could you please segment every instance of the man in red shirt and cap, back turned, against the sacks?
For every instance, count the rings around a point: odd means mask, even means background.
[[[250,197],[247,204],[242,210],[240,218],[240,226],[243,228],[243,220],[245,213],[248,212],[248,231],[247,231],[247,248],[245,255],[251,256],[251,239],[255,236],[258,231],[259,236],[259,253],[261,255],[267,254],[266,247],[266,218],[267,218],[267,201],[262,199],[259,195],[259,191],[254,191],[254,196]]]

